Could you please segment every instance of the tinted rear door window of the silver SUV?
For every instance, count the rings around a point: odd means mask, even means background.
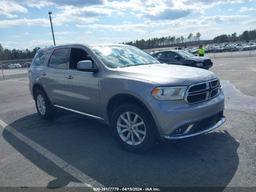
[[[54,50],[50,60],[49,67],[66,69],[68,62],[68,48],[56,49]]]

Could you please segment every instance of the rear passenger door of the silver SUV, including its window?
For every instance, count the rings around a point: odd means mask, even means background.
[[[69,48],[56,48],[52,51],[46,67],[41,70],[40,83],[52,104],[66,104],[65,70]]]

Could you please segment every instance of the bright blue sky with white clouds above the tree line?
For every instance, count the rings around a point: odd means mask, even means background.
[[[162,36],[213,39],[256,29],[256,0],[0,0],[0,44],[32,50]]]

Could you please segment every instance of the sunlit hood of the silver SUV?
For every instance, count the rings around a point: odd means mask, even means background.
[[[208,70],[172,64],[150,64],[117,68],[121,76],[138,78],[162,86],[186,86],[217,78]]]

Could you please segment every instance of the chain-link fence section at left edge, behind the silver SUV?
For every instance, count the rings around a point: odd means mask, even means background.
[[[0,61],[0,80],[27,77],[32,59]]]

